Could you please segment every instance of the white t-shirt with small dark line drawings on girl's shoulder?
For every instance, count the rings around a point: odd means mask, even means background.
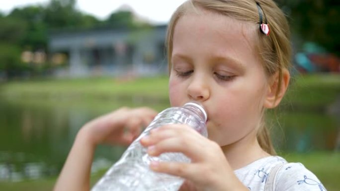
[[[269,156],[235,170],[235,175],[250,191],[264,191],[270,170],[283,164],[277,172],[275,191],[326,191],[319,179],[301,163],[288,163],[279,156]]]

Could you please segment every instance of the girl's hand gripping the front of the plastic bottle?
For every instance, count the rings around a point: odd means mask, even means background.
[[[220,146],[188,126],[176,124],[154,129],[141,143],[152,156],[181,152],[191,159],[191,163],[153,162],[150,165],[156,172],[186,179],[181,187],[183,191],[248,191],[234,175]]]

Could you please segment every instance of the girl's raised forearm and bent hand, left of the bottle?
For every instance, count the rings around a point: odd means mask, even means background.
[[[131,143],[156,115],[150,108],[121,108],[87,123],[77,134],[54,191],[88,191],[95,146]]]

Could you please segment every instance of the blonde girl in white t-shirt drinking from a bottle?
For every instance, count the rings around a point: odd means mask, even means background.
[[[167,46],[170,104],[200,102],[209,137],[183,125],[152,131],[141,140],[150,155],[182,152],[192,160],[155,162],[152,170],[184,178],[180,191],[326,190],[302,164],[275,156],[263,123],[290,78],[289,27],[272,0],[188,0],[172,15]],[[55,191],[88,190],[95,146],[130,143],[155,115],[122,108],[82,127]]]

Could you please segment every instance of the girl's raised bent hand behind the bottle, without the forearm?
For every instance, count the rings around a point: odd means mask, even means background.
[[[80,133],[94,146],[102,143],[128,145],[156,115],[156,111],[147,107],[125,107],[88,122]]]

